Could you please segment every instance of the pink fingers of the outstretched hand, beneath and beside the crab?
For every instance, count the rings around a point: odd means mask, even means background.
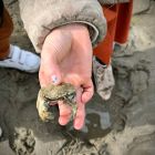
[[[81,130],[84,125],[84,120],[85,120],[85,103],[91,100],[93,96],[93,83],[90,80],[90,82],[85,83],[83,89],[79,87],[76,89],[76,104],[78,104],[78,110],[76,114],[74,117],[74,128],[75,130]],[[71,106],[66,105],[63,102],[59,102],[59,110],[60,110],[60,117],[59,117],[59,123],[61,125],[66,125],[72,116],[72,108]]]

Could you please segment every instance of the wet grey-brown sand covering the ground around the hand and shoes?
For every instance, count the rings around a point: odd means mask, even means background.
[[[33,50],[19,17],[18,2],[6,0],[14,22],[11,42]],[[114,54],[112,97],[95,94],[86,105],[82,131],[43,123],[35,108],[38,74],[0,69],[0,155],[154,155],[155,2],[133,17],[132,52]]]

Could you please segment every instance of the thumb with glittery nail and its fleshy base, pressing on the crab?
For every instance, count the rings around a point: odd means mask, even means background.
[[[60,62],[68,55],[71,48],[70,34],[53,30],[46,38],[41,51],[40,83],[60,84],[62,82]]]

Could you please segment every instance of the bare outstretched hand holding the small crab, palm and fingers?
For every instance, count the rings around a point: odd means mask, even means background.
[[[45,86],[56,78],[56,84],[72,83],[76,89],[78,112],[74,127],[80,130],[85,118],[85,103],[93,95],[92,45],[89,31],[82,24],[55,29],[44,41],[41,52],[40,83]],[[71,108],[59,102],[61,125],[70,121]]]

